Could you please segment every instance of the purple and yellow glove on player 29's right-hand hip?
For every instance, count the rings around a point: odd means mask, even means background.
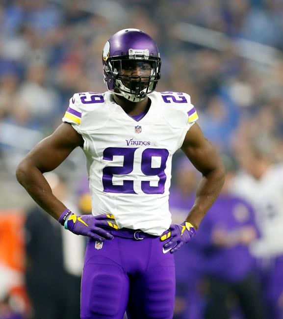
[[[161,241],[167,240],[163,245],[163,253],[166,254],[168,251],[172,254],[175,253],[184,243],[188,242],[195,233],[194,226],[188,221],[184,221],[181,224],[171,224],[169,229],[160,236]]]

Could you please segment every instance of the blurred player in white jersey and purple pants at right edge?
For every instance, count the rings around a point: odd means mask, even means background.
[[[257,259],[267,318],[283,318],[283,164],[275,163],[272,144],[256,140],[240,149],[242,171],[232,190],[256,212],[261,237],[251,245]]]

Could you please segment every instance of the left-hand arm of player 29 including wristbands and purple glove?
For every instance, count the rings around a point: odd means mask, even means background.
[[[17,168],[16,176],[33,200],[72,233],[100,241],[113,239],[111,234],[101,228],[117,228],[113,215],[77,216],[52,194],[51,187],[43,176],[43,173],[59,166],[76,147],[82,147],[83,142],[82,136],[72,125],[61,124],[52,135],[38,143],[26,155]]]

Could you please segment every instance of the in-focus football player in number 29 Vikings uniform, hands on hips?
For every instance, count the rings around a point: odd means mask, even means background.
[[[67,230],[90,237],[81,282],[81,319],[173,316],[173,253],[196,233],[218,196],[224,167],[195,122],[186,93],[155,92],[161,60],[138,29],[115,33],[103,48],[108,91],[76,93],[63,124],[17,168],[32,198]],[[87,159],[92,215],[77,216],[54,196],[43,173],[80,147]],[[203,174],[182,223],[168,195],[173,154],[181,149]]]

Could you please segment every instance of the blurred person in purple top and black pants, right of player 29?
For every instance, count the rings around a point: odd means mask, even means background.
[[[230,319],[238,308],[241,318],[264,319],[255,260],[249,251],[249,245],[259,236],[255,213],[250,204],[229,190],[235,168],[232,159],[226,161],[222,191],[207,212],[199,229],[200,236],[195,238],[205,265],[204,318]]]

